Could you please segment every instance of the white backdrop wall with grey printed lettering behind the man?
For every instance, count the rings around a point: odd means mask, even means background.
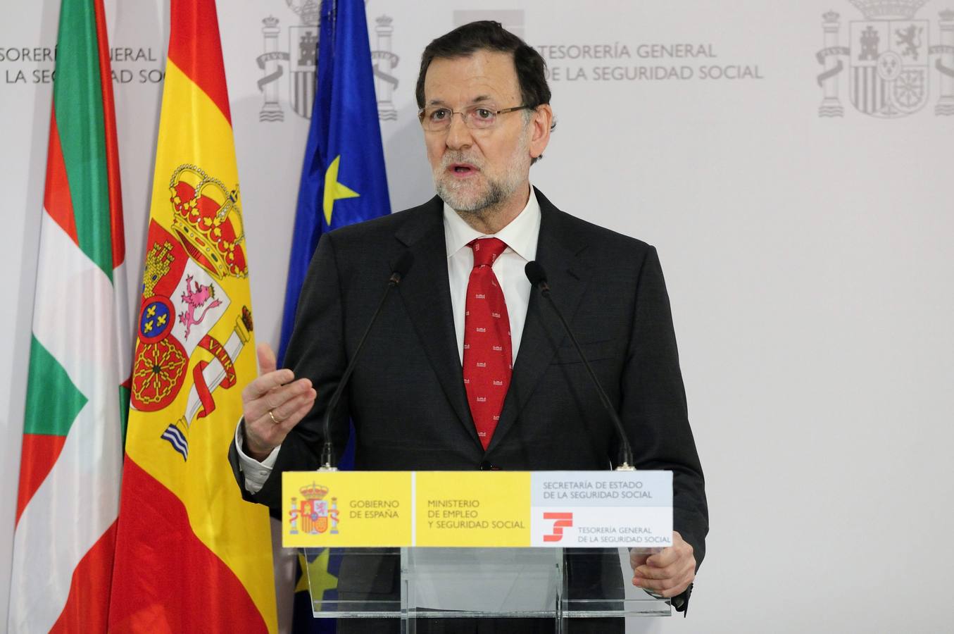
[[[379,105],[392,207],[432,193],[413,97],[421,51],[459,23],[499,16],[551,69],[558,127],[531,180],[570,213],[655,244],[672,298],[712,532],[690,618],[633,631],[944,629],[954,566],[954,116],[943,97],[954,77],[936,64],[954,67],[954,49],[928,47],[954,45],[954,13],[942,14],[954,0],[884,3],[910,6],[911,18],[894,24],[876,19],[878,0],[856,3],[867,12],[849,0],[500,4],[508,11],[471,11],[486,5],[473,0],[367,2],[371,48],[396,80],[378,87],[391,100]],[[58,6],[7,3],[0,20],[9,306],[0,311],[0,623],[49,128],[53,63],[43,49],[55,43]],[[114,71],[135,298],[168,2],[110,0],[107,14],[122,50]],[[377,32],[385,14],[389,38]],[[219,6],[257,333],[277,344],[308,122],[292,107],[294,54],[264,84],[283,120],[259,121],[259,79],[276,69],[256,61],[269,16],[279,19],[269,50],[292,51],[301,20],[283,0]],[[853,105],[850,84],[875,72],[862,59],[869,26],[906,73],[892,84],[892,116]],[[902,42],[907,26],[917,59]],[[843,50],[819,61],[826,47]],[[839,62],[840,73],[819,81]],[[825,95],[823,113],[842,116],[820,116]]]

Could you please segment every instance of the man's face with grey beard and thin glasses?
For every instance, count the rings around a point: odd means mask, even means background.
[[[434,59],[427,67],[424,94],[425,108],[456,112],[475,105],[491,111],[523,105],[510,53],[478,51]],[[532,125],[525,115],[498,115],[487,130],[471,130],[462,116],[454,115],[447,130],[425,130],[434,185],[452,209],[480,215],[526,197]]]

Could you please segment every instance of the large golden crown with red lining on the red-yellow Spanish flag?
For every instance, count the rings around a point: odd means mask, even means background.
[[[169,192],[173,230],[189,257],[219,280],[247,277],[239,186],[229,189],[196,165],[179,165]]]

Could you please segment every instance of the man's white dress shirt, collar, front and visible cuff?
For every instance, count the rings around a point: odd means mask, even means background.
[[[530,283],[524,273],[528,262],[536,259],[537,240],[540,237],[540,203],[530,187],[527,206],[516,218],[496,234],[477,231],[464,222],[456,211],[444,205],[444,242],[447,247],[447,277],[450,284],[450,306],[454,314],[454,331],[457,334],[457,353],[464,363],[464,313],[467,306],[467,283],[474,267],[474,254],[467,243],[477,238],[497,238],[507,248],[492,264],[504,291],[504,302],[510,318],[510,348],[513,362],[517,360],[520,339],[527,321],[527,306],[530,300]],[[236,448],[239,450],[239,466],[245,475],[245,489],[255,494],[271,475],[280,447],[259,462],[242,451],[241,425],[236,428]]]

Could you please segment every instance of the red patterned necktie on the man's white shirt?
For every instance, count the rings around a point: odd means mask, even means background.
[[[474,252],[474,267],[467,282],[464,387],[477,435],[487,449],[500,420],[513,371],[510,318],[504,291],[491,268],[507,244],[496,238],[481,238],[467,246]]]

